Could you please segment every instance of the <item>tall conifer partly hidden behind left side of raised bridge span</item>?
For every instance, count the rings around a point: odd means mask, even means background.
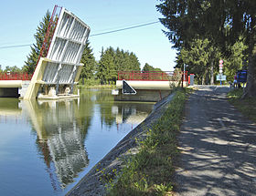
[[[37,33],[34,35],[36,43],[31,46],[31,52],[27,56],[27,61],[25,61],[25,66],[22,67],[24,72],[32,74],[37,66],[37,60],[40,54],[41,46],[43,45],[45,35],[48,30],[48,23],[50,21],[50,13],[47,11],[46,15],[43,17],[42,21],[37,26]],[[46,57],[47,54],[44,53],[42,57]]]

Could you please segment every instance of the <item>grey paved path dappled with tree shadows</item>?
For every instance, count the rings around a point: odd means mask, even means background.
[[[256,195],[256,124],[229,104],[228,87],[198,88],[179,136],[176,195]]]

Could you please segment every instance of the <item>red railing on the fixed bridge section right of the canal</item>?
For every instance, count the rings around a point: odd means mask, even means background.
[[[183,72],[173,71],[120,71],[118,80],[142,80],[142,81],[181,81],[184,77]],[[185,72],[185,81],[187,81],[187,71]]]

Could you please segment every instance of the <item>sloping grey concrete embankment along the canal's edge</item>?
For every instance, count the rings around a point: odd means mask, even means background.
[[[154,122],[165,112],[168,103],[172,100],[174,94],[169,95],[163,100],[157,102],[150,115],[144,121],[128,133],[101,161],[99,161],[81,181],[67,193],[67,196],[91,195],[100,196],[106,194],[106,175],[113,178],[123,167],[123,161],[138,150],[137,140],[143,140],[146,132]]]

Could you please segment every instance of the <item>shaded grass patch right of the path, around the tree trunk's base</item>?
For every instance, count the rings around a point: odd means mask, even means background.
[[[242,96],[242,88],[235,89],[229,92],[228,98],[229,102],[235,107],[240,110],[240,112],[251,119],[252,121],[256,122],[256,98],[243,98]]]

